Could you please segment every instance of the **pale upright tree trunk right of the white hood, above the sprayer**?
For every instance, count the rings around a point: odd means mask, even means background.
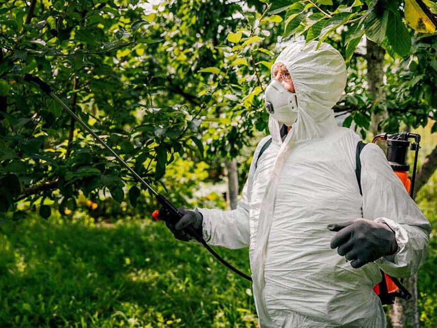
[[[382,109],[381,104],[385,100],[384,93],[384,54],[383,48],[367,39],[366,46],[367,81],[368,90],[373,97],[370,132],[376,135],[381,132],[379,124],[387,119],[387,110]]]

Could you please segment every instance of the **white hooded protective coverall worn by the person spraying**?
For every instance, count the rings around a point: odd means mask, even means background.
[[[346,84],[341,54],[328,44],[295,42],[276,59],[291,74],[298,119],[284,139],[270,117],[272,143],[254,162],[235,210],[200,208],[203,237],[211,245],[249,246],[253,295],[264,327],[384,327],[373,286],[380,268],[395,277],[413,275],[426,257],[430,224],[382,150],[361,153],[360,195],[355,150],[360,140],[337,127],[332,107]],[[385,221],[398,252],[353,269],[330,248],[328,224],[364,217]]]

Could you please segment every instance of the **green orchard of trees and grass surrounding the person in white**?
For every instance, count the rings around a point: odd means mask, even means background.
[[[413,301],[386,310],[436,327],[436,16],[431,0],[2,1],[0,326],[255,327],[250,284],[152,222],[150,193],[23,75],[177,207],[234,208],[268,133],[269,69],[305,39],[347,61],[339,124],[422,135],[430,254]],[[246,249],[219,252],[249,273]]]

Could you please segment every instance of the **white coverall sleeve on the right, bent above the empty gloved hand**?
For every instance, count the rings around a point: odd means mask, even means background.
[[[431,225],[393,172],[382,149],[370,143],[361,155],[363,218],[385,222],[394,232],[398,251],[375,263],[388,275],[410,277],[428,253]]]

